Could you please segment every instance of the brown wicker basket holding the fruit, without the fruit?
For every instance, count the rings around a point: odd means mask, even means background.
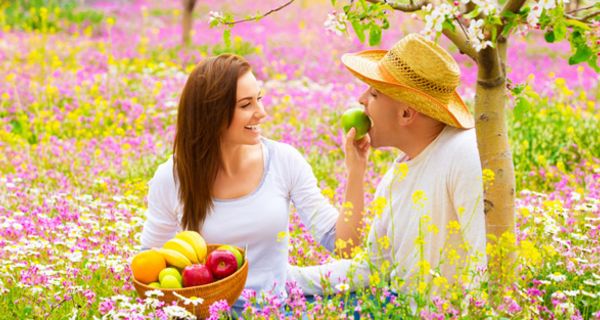
[[[209,244],[207,246],[208,253],[217,249],[219,246],[221,246],[221,245],[220,244]],[[246,252],[244,251],[244,249],[239,248],[239,247],[237,247],[237,248],[238,248],[238,250],[240,250],[242,255],[244,255],[244,257],[245,257]],[[162,288],[155,289],[155,288],[149,287],[149,286],[135,280],[135,278],[133,278],[133,277],[132,277],[132,279],[133,279],[133,286],[135,287],[135,290],[137,291],[137,293],[140,297],[146,298],[146,295],[145,295],[146,291],[160,290],[164,293],[164,296],[158,297],[158,299],[165,302],[167,305],[170,305],[170,304],[172,304],[173,301],[176,301],[180,307],[186,308],[189,312],[195,314],[196,317],[207,318],[209,316],[208,307],[211,304],[213,304],[215,301],[225,299],[225,300],[227,300],[227,303],[229,303],[230,306],[233,305],[233,303],[242,294],[242,290],[244,290],[247,276],[248,276],[248,259],[244,258],[244,264],[242,264],[242,267],[239,268],[232,275],[230,275],[226,278],[223,278],[221,280],[217,280],[215,282],[201,285],[201,286],[187,287],[187,288],[181,288],[181,289],[162,289]],[[193,306],[191,303],[188,305],[185,305],[181,299],[177,298],[173,294],[173,291],[176,291],[177,294],[180,294],[187,298],[191,298],[191,297],[202,298],[202,299],[204,299],[204,302],[197,306]]]

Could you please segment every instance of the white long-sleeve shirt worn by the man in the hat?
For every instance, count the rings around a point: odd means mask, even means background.
[[[426,272],[422,280],[431,277],[422,261],[432,269],[439,266],[448,282],[456,281],[454,276],[462,268],[474,271],[486,264],[482,170],[475,130],[447,126],[414,159],[401,154],[379,183],[374,199],[378,198],[385,199],[385,206],[371,224],[367,256],[372,270],[378,272],[383,261],[389,261],[387,274],[380,276],[391,280],[394,290],[415,290],[422,270]],[[288,280],[296,281],[305,294],[322,294],[323,276],[333,286],[344,282],[357,288],[367,286],[373,274],[365,259],[345,259],[290,266]],[[395,281],[399,279],[405,282]]]

